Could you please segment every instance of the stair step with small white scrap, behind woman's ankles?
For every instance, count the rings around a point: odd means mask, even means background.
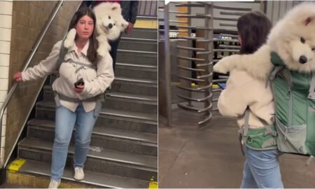
[[[19,143],[19,158],[51,162],[53,142],[41,139],[22,139]],[[73,166],[74,146],[69,145],[67,167]],[[158,158],[149,155],[123,153],[97,146],[90,146],[90,151],[85,161],[85,170],[127,176],[134,179],[148,180],[158,172]]]

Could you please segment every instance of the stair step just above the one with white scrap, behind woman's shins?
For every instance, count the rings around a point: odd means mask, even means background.
[[[49,121],[50,123],[47,123]],[[45,120],[42,122],[45,122]],[[52,120],[47,120],[47,122],[44,123],[45,125],[30,122],[27,128],[27,136],[45,141],[54,141],[55,122]],[[71,144],[74,144],[74,139],[75,132],[72,133]],[[104,125],[94,127],[90,145],[138,155],[158,155],[157,134],[118,130],[113,127],[104,127]]]

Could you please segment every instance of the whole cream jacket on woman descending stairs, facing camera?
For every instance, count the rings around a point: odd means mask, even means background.
[[[22,72],[22,80],[35,80],[37,78],[43,78],[48,74],[52,73],[57,69],[57,59],[59,58],[60,47],[62,41],[58,41],[52,48],[50,55],[36,66],[28,68],[26,71]],[[76,98],[76,99],[88,99],[90,97],[95,97],[98,94],[102,94],[107,87],[111,85],[114,79],[113,73],[113,59],[111,55],[106,55],[105,57],[100,57],[99,62],[97,62],[97,70],[92,69],[88,66],[84,66],[78,69],[81,65],[75,63],[66,62],[67,59],[72,59],[76,62],[81,62],[83,64],[92,63],[87,59],[87,49],[89,46],[89,41],[85,44],[84,48],[78,53],[78,48],[76,43],[73,44],[68,49],[67,54],[64,57],[65,62],[59,67],[59,78],[57,78],[54,83],[52,83],[52,90],[63,94],[66,97]],[[77,70],[78,69],[78,70]],[[77,71],[77,73],[76,73]],[[83,78],[85,82],[85,87],[83,92],[80,94],[76,93],[74,90],[74,83],[79,79]],[[82,102],[85,112],[89,112],[95,109],[96,102]],[[78,103],[60,100],[60,104],[71,111],[76,111]]]

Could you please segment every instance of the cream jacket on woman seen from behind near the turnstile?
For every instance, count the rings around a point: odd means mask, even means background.
[[[263,127],[260,119],[268,125],[274,123],[274,100],[269,83],[266,87],[266,82],[234,69],[218,99],[218,110],[223,116],[237,118],[237,125],[242,127],[247,106],[250,109],[250,128]]]

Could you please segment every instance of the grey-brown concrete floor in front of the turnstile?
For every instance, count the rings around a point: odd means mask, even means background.
[[[174,109],[173,127],[159,120],[159,188],[239,188],[245,158],[234,119],[216,114],[199,128],[197,113]],[[198,118],[199,117],[199,118]],[[285,188],[315,188],[315,160],[281,155]]]

